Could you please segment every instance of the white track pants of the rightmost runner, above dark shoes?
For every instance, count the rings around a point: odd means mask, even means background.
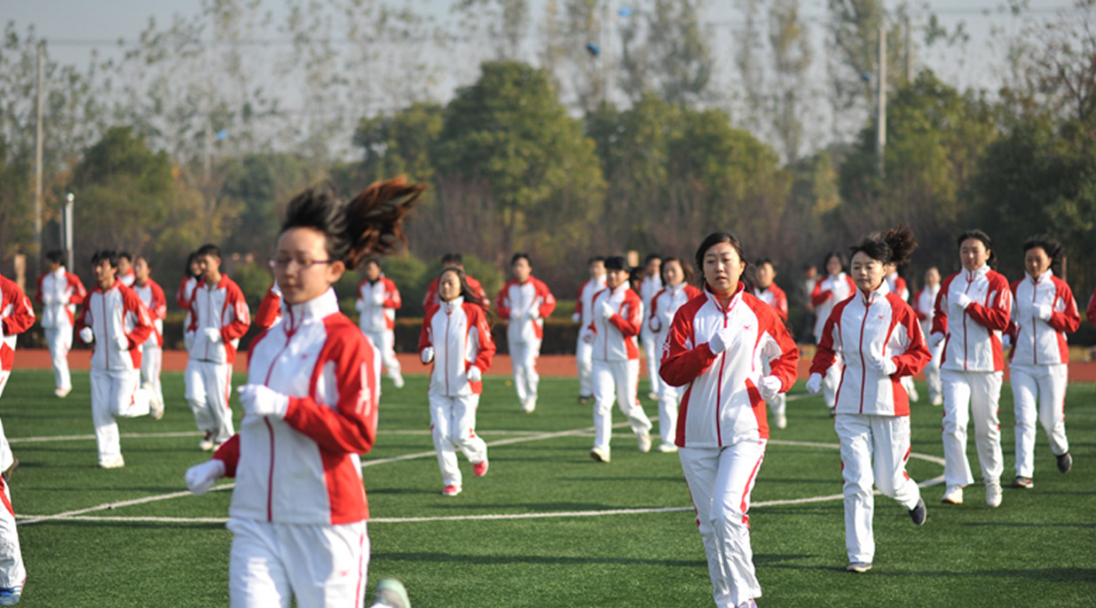
[[[1035,421],[1047,432],[1050,451],[1061,456],[1070,451],[1065,438],[1066,364],[1012,365],[1013,408],[1016,412],[1016,475],[1035,477]]]

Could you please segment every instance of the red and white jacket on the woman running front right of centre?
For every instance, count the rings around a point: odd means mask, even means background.
[[[708,342],[723,328],[741,328],[713,355]],[[739,285],[727,308],[705,290],[677,310],[662,346],[662,379],[687,387],[677,411],[677,447],[723,447],[768,439],[765,402],[757,382],[762,357],[786,391],[796,382],[799,348],[773,307]]]

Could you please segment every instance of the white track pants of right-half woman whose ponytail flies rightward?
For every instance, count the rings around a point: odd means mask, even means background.
[[[837,414],[841,470],[845,478],[845,550],[849,562],[871,563],[876,538],[871,527],[871,486],[906,511],[917,506],[921,490],[905,472],[910,455],[910,416]]]

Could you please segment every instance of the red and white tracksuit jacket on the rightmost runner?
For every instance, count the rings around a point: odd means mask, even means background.
[[[1008,333],[1013,339],[1009,364],[1054,365],[1070,363],[1070,347],[1065,334],[1077,331],[1081,314],[1073,290],[1066,283],[1047,271],[1032,279],[1025,275],[1011,286],[1013,292],[1012,323]],[[1039,308],[1051,307],[1049,321],[1039,319]]]

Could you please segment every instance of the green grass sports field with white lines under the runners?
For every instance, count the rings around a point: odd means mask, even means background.
[[[117,470],[95,467],[88,377],[73,380],[72,393],[58,400],[52,372],[16,370],[0,399],[22,461],[12,478],[30,573],[20,606],[227,606],[231,536],[222,521],[230,492],[185,493],[183,472],[208,455],[197,449],[182,375],[164,375],[163,420],[121,422],[126,467]],[[461,459],[465,491],[454,498],[439,494],[426,377],[409,376],[402,390],[385,382],[379,437],[364,471],[373,516],[369,597],[378,581],[397,577],[416,608],[711,605],[676,455],[639,454],[618,426],[613,462],[593,462],[592,415],[575,403],[574,380],[544,379],[537,412],[526,415],[505,380],[486,379],[478,427],[493,445],[491,470],[472,478]],[[1011,480],[1007,386],[1002,404]],[[996,511],[985,506],[980,485],[968,489],[966,505],[946,508],[937,484],[924,490],[928,521],[915,528],[904,509],[877,497],[875,569],[854,575],[843,570],[832,423],[821,398],[789,402],[789,427],[774,429],[753,493],[760,604],[1096,605],[1094,405],[1093,385],[1071,385],[1074,470],[1058,472],[1040,429],[1035,489],[1006,487]],[[647,410],[655,417],[653,405]],[[911,461],[911,475],[939,478],[938,408],[914,406],[913,450],[926,458]],[[969,450],[977,470],[973,438]],[[833,498],[792,502],[826,496]]]

